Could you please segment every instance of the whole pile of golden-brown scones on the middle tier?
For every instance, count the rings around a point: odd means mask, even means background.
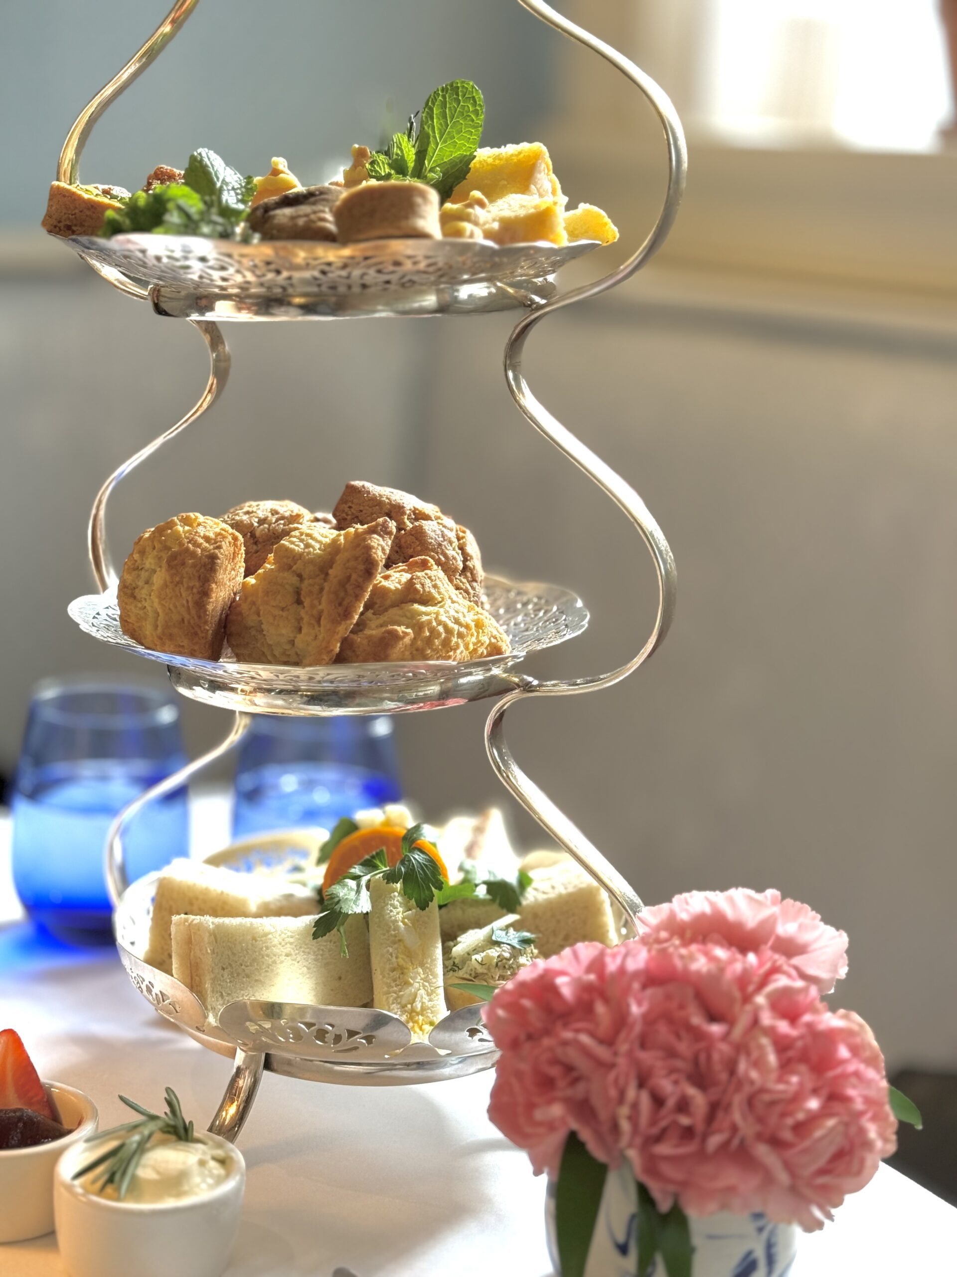
[[[333,512],[249,501],[147,529],[117,589],[120,628],[154,651],[330,665],[509,650],[467,527],[394,488],[348,483]]]

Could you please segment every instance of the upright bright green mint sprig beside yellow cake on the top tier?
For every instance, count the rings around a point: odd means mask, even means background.
[[[449,80],[411,115],[404,133],[393,133],[366,163],[374,181],[424,181],[444,203],[468,176],[485,124],[485,100],[471,80]]]

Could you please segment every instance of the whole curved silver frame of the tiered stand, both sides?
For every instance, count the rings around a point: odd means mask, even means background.
[[[106,107],[116,98],[131,80],[134,80],[147,66],[160,55],[170,40],[180,31],[186,18],[195,9],[199,0],[176,0],[172,9],[145,41],[142,49],[130,59],[126,66],[114,77],[114,79],[101,89],[100,93],[82,111],[77,123],[64,143],[57,167],[57,179],[64,183],[78,181],[79,160],[91,129]],[[532,678],[522,678],[517,690],[507,693],[491,711],[486,724],[486,748],[493,767],[505,787],[519,799],[519,802],[536,817],[536,820],[549,830],[549,833],[564,847],[592,877],[601,884],[609,895],[618,903],[632,930],[637,928],[638,913],[642,903],[627,882],[621,873],[606,859],[605,856],[575,827],[575,825],[551,802],[551,799],[528,778],[516,762],[504,737],[504,719],[512,705],[519,700],[532,696],[570,696],[582,692],[598,691],[611,687],[614,683],[632,674],[656,650],[665,635],[675,608],[675,563],[661,529],[647,510],[638,493],[615,474],[600,457],[581,443],[549,410],[538,402],[528,387],[522,374],[522,355],[526,341],[545,315],[572,305],[574,301],[587,298],[596,298],[610,289],[616,287],[630,278],[665,241],[684,194],[685,172],[688,165],[684,134],[680,121],[669,97],[662,89],[642,72],[634,63],[629,61],[610,45],[597,40],[582,27],[575,26],[569,19],[556,13],[545,0],[518,0],[518,3],[532,13],[541,22],[555,31],[577,41],[586,49],[593,50],[606,61],[611,63],[623,75],[627,77],[648,100],[661,121],[669,157],[669,183],[664,207],[655,227],[641,248],[623,266],[610,275],[600,278],[595,283],[572,290],[570,292],[554,298],[541,304],[528,301],[532,306],[516,326],[505,346],[505,375],[509,391],[516,404],[522,410],[531,424],[545,435],[555,447],[583,470],[609,497],[624,511],[628,518],[638,529],[655,563],[658,582],[658,608],[652,632],[638,654],[620,668],[607,674],[588,676],[569,681],[536,682]],[[88,259],[93,269],[98,271],[110,283],[125,292],[128,296],[149,300],[151,292],[135,280],[126,278],[120,271]],[[209,350],[211,372],[205,391],[197,405],[174,427],[166,430],[160,438],[142,448],[129,461],[124,462],[106,480],[97,494],[89,522],[89,555],[93,573],[101,591],[110,589],[116,581],[116,573],[110,557],[106,538],[106,506],[112,489],[125,478],[140,461],[160,448],[167,439],[185,429],[197,420],[221,393],[230,368],[230,355],[222,332],[217,324],[204,319],[191,319],[202,333]],[[330,710],[330,713],[333,713]],[[130,803],[114,821],[110,829],[106,847],[106,873],[110,886],[110,895],[116,903],[128,884],[122,854],[122,831],[128,821],[153,799],[158,799],[172,789],[179,788],[190,776],[200,771],[213,760],[221,757],[231,750],[249,728],[250,719],[245,714],[236,714],[228,736],[213,750],[190,762],[172,776],[147,790],[133,803]],[[239,1005],[239,1004],[236,1004]],[[265,1055],[263,1052],[236,1052],[234,1074],[227,1085],[219,1110],[213,1119],[211,1130],[236,1139],[259,1087],[263,1073]],[[282,1069],[279,1070],[282,1071]],[[462,1071],[472,1071],[462,1070]],[[330,1079],[338,1080],[338,1079]]]

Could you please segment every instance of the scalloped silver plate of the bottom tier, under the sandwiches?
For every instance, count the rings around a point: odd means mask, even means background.
[[[309,854],[304,840],[283,844],[264,838],[263,847],[242,844],[211,861],[250,873],[285,873]],[[361,1006],[306,1006],[262,1000],[230,1002],[212,1019],[199,999],[143,958],[160,873],[148,873],[122,895],[114,916],[116,946],[133,986],[167,1020],[219,1055],[263,1054],[265,1069],[287,1078],[342,1085],[388,1087],[445,1082],[490,1069],[498,1051],[482,1024],[482,1008],[447,1015],[413,1042],[406,1024],[388,1011]]]

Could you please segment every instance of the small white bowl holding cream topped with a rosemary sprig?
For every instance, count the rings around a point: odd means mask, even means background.
[[[230,1158],[226,1180],[186,1202],[110,1202],[70,1176],[97,1156],[74,1144],[56,1165],[54,1209],[60,1259],[69,1277],[221,1277],[242,1209],[246,1163],[218,1135],[203,1134]]]

